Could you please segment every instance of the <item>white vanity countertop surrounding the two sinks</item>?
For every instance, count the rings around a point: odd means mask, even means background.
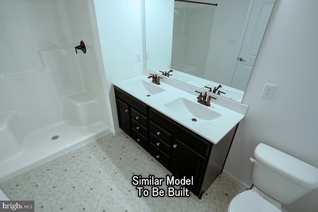
[[[151,95],[150,97],[147,97],[147,95],[145,95],[146,93],[141,92],[141,89],[138,89],[136,86],[136,83],[138,83],[138,81],[146,81],[147,83],[151,83],[152,79],[147,79],[147,76],[145,75],[140,75],[137,77],[117,81],[114,82],[113,85],[125,91],[126,93],[132,95],[141,102],[153,107],[154,109],[158,110],[159,112],[168,116],[174,121],[180,123],[181,125],[191,129],[192,131],[211,141],[213,144],[217,144],[233,127],[235,127],[239,123],[239,121],[245,115],[248,106],[236,103],[231,100],[225,100],[225,98],[212,94],[209,95],[217,97],[217,100],[212,99],[211,106],[204,106],[200,103],[197,103],[197,93],[195,93],[195,90],[199,89],[193,88],[193,94],[189,94],[183,90],[168,85],[168,83],[164,83],[165,81],[168,82],[172,79],[168,79],[166,77],[163,78],[164,79],[161,80],[160,85],[156,85],[153,83],[152,85],[161,88],[164,91],[155,95]],[[211,120],[197,118],[197,121],[194,122],[191,120],[191,118],[186,117],[178,112],[175,112],[165,106],[166,104],[179,98],[184,98],[195,104],[198,104],[199,106],[218,112],[221,114],[221,116]],[[229,109],[224,106],[227,105],[225,104],[225,101],[231,101],[229,105],[231,105],[232,109]],[[223,106],[218,104],[218,102],[222,103],[221,105]],[[233,106],[233,104],[239,104],[239,112],[233,110],[233,108],[235,107],[235,105]],[[241,109],[242,107],[243,109]]]

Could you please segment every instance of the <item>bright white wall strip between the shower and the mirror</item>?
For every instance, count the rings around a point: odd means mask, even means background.
[[[94,0],[99,40],[112,113],[110,128],[119,130],[112,82],[142,74],[142,0]]]

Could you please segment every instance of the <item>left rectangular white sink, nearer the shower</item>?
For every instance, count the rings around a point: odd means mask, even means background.
[[[131,90],[136,91],[137,94],[145,96],[159,94],[160,92],[164,91],[164,89],[160,88],[160,85],[155,85],[144,80],[134,81],[132,83],[129,83],[128,86]]]

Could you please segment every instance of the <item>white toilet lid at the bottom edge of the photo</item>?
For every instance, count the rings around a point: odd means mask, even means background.
[[[237,195],[229,205],[229,212],[282,212],[251,190]]]

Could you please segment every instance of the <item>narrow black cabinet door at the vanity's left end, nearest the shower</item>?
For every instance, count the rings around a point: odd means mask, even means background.
[[[130,106],[116,98],[119,127],[131,136]]]

